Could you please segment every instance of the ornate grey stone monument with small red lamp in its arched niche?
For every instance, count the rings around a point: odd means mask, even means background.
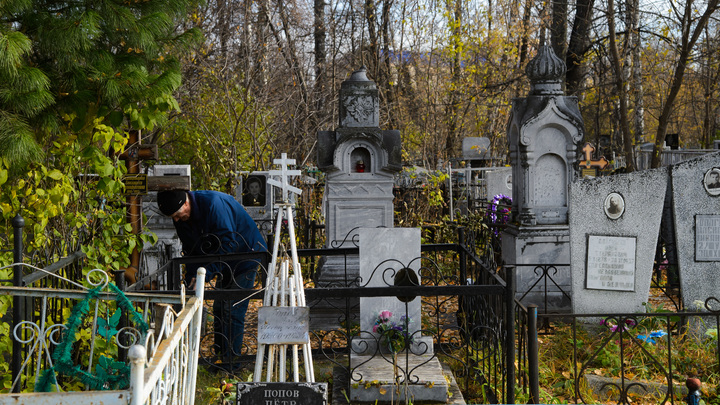
[[[393,227],[400,131],[379,125],[378,89],[361,67],[340,87],[340,126],[318,132],[318,168],[327,173],[323,208],[328,248],[357,247],[360,227]],[[329,256],[318,274],[318,286],[352,284],[359,274],[358,258],[346,262]]]

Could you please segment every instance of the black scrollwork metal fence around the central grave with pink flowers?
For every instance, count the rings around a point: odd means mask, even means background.
[[[459,241],[478,240],[474,232],[465,228],[457,229],[455,235]],[[379,283],[360,278],[357,273],[357,247],[298,250],[307,284],[305,296],[311,313],[314,360],[332,364],[336,371],[346,375],[347,379],[342,384],[349,391],[353,384],[364,381],[358,366],[351,361],[351,354],[387,357],[381,349],[387,336],[361,328],[360,299],[390,297],[390,300],[403,300],[418,296],[422,316],[413,319],[417,328],[406,338],[424,343],[408,345],[406,352],[430,356],[449,364],[465,395],[490,403],[513,403],[516,392],[528,392],[529,389],[527,351],[516,349],[516,344],[525,345],[527,342],[527,316],[523,311],[516,315],[518,307],[514,288],[505,281],[513,280],[510,277],[513,269],[498,271],[494,258],[478,260],[475,255],[478,250],[463,243],[423,244],[421,250],[422,256],[416,258],[416,264],[412,266],[419,281],[406,285],[396,283],[397,270],[385,268],[373,272],[372,277],[378,278]],[[254,368],[257,348],[256,334],[252,333],[256,327],[253,308],[264,295],[268,259],[269,255],[265,253],[175,258],[129,288],[142,289],[148,285],[168,290],[179,288],[181,266],[193,263],[228,267],[227,263],[256,263],[259,274],[252,289],[223,288],[220,275],[211,279],[205,299],[213,302],[213,308],[206,307],[208,320],[200,351],[201,364],[206,367],[249,373]],[[327,281],[319,275],[318,269],[328,261],[342,263],[344,268],[339,271],[340,278]],[[233,330],[234,321],[231,317],[223,317],[217,307],[223,305],[218,303],[233,305],[243,300],[250,300],[250,310],[242,346],[237,347],[231,344],[233,339],[227,332]],[[412,318],[417,314],[394,314],[396,321],[403,316]],[[515,322],[516,319],[518,322]],[[367,347],[363,349],[363,345],[375,349],[368,351]],[[519,364],[522,364],[523,373],[517,388],[516,352],[521,355]],[[409,381],[416,377],[414,373],[417,371],[409,363],[404,366],[399,364],[398,367]]]

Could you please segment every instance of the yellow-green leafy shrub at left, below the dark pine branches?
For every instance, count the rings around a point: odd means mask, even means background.
[[[132,234],[127,223],[125,165],[108,156],[126,142],[123,134],[96,123],[87,136],[56,137],[45,162],[33,164],[23,178],[11,180],[10,162],[0,159],[0,233],[12,234],[10,220],[19,213],[28,252],[55,252],[56,260],[81,245],[88,268],[127,266],[135,247],[156,238]]]

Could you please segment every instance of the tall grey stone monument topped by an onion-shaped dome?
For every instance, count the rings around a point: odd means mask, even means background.
[[[563,95],[565,63],[542,46],[525,72],[530,94],[513,100],[508,123],[513,218],[502,237],[503,259],[517,264],[517,296],[552,311],[570,310],[568,189],[577,177],[584,124],[576,97]],[[535,266],[557,266],[552,280]],[[554,282],[552,282],[554,281]],[[549,296],[545,305],[545,286]],[[565,293],[564,293],[565,292]]]

